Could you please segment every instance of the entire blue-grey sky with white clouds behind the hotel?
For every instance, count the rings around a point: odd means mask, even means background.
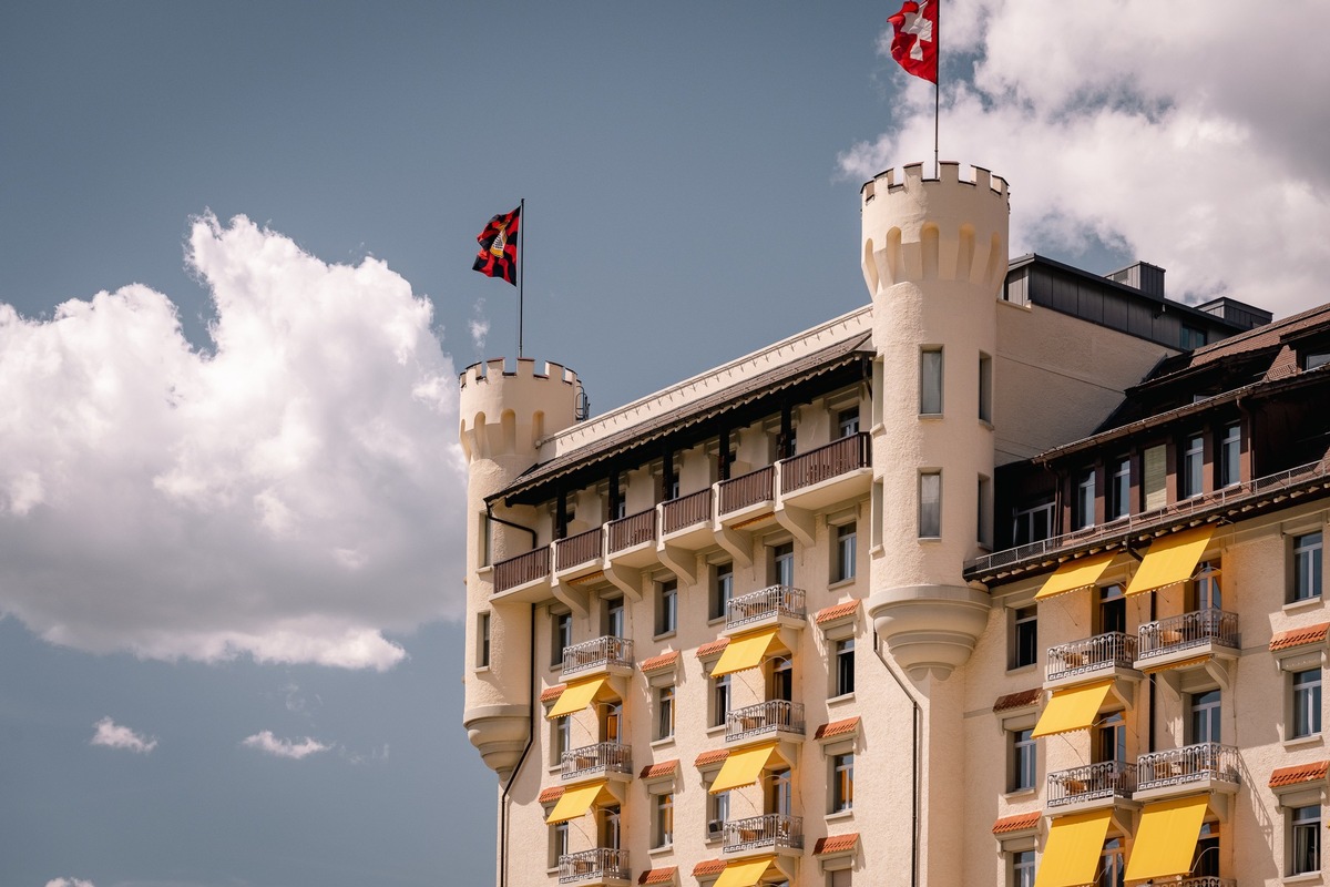
[[[5,884],[488,883],[455,374],[516,293],[475,235],[525,198],[525,350],[595,412],[861,306],[859,185],[932,154],[890,12],[0,8]],[[956,0],[943,158],[1009,180],[1012,254],[1310,307],[1330,13],[1254,24]]]

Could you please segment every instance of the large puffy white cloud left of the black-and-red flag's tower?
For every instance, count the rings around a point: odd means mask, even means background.
[[[463,465],[432,311],[382,261],[192,225],[211,347],[133,285],[0,305],[0,614],[150,658],[384,669],[456,614]]]

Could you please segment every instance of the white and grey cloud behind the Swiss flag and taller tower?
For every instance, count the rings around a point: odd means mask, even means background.
[[[1294,313],[1330,271],[1327,28],[1319,0],[1258,16],[1237,0],[956,0],[943,52],[974,77],[944,68],[943,160],[1011,182],[1012,254],[1099,241],[1165,267],[1173,297]],[[841,157],[847,176],[931,174],[932,85],[888,76],[894,125]]]

